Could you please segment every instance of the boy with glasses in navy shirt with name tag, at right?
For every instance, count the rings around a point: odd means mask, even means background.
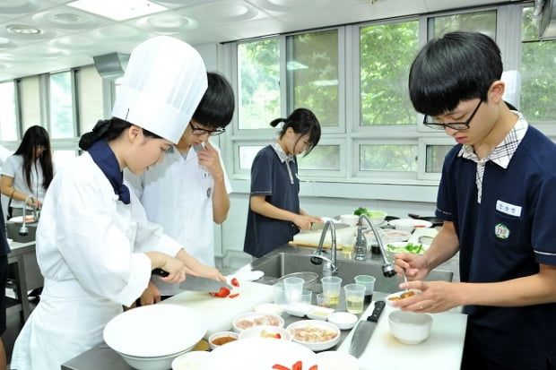
[[[475,32],[433,39],[409,90],[447,153],[436,215],[444,226],[421,256],[396,254],[404,310],[468,314],[462,369],[556,368],[556,145],[502,99],[500,49]],[[461,282],[421,281],[459,252]]]

